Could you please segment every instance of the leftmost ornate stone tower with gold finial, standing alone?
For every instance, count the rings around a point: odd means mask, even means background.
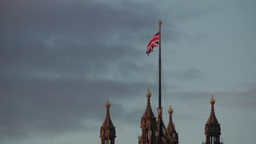
[[[115,136],[115,127],[109,116],[110,103],[108,102],[108,100],[105,103],[105,106],[107,108],[107,113],[106,113],[105,121],[101,126],[101,132],[100,132],[101,144],[114,144],[115,137],[117,136]]]

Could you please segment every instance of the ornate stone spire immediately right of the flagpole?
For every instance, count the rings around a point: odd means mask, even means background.
[[[172,113],[173,113],[173,109],[170,105],[170,108],[168,109],[168,113],[169,113],[169,123],[167,126],[167,133],[170,135],[172,143],[173,144],[178,144],[179,143],[179,137],[178,137],[178,133],[175,129],[175,125],[172,122]]]

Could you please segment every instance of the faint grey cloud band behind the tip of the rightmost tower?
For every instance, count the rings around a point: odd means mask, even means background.
[[[210,105],[211,95],[214,95],[216,104],[225,108],[256,109],[255,88],[243,92],[170,92],[168,99],[180,104],[195,107],[200,111],[202,106]],[[249,99],[249,100],[248,100]],[[196,112],[195,112],[196,113]]]

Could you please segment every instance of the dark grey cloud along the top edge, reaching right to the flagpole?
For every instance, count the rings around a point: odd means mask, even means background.
[[[144,34],[158,20],[157,16],[156,20],[148,19],[149,15],[154,17],[158,13],[150,9],[139,9],[142,5],[125,3],[118,5],[120,8],[114,8],[106,3],[86,1],[5,1],[1,7],[1,26],[3,31],[8,29],[10,34],[13,31],[13,34],[28,33],[43,39],[54,34],[68,35],[86,43],[96,43],[116,33],[121,34],[121,37],[130,35],[132,38],[138,33]],[[150,7],[154,9],[153,5]]]

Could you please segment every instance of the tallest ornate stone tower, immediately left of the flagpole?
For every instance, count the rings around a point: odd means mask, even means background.
[[[147,95],[147,107],[144,112],[144,115],[141,117],[141,137],[138,137],[138,143],[139,144],[155,144],[156,143],[156,118],[154,116],[154,113],[152,112],[151,106],[150,106],[150,97],[151,93],[146,93]]]

